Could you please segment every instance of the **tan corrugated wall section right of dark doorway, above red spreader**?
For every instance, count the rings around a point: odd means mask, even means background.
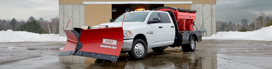
[[[174,7],[174,8],[183,8],[183,9],[191,9],[191,4],[164,4],[164,6]]]

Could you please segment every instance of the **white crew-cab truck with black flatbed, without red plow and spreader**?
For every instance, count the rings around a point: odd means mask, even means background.
[[[165,8],[177,9],[177,11],[180,9],[171,7],[162,7],[160,9]],[[186,12],[187,9],[182,13],[185,14]],[[172,16],[169,13],[172,13]],[[195,14],[195,12],[193,13]],[[168,46],[181,46],[183,51],[193,52],[196,48],[195,41],[202,41],[201,32],[178,31],[177,28],[181,27],[178,27],[177,21],[173,21],[175,19],[172,18],[175,18],[175,15],[170,10],[167,12],[134,11],[120,15],[113,22],[93,26],[92,29],[105,25],[109,28],[120,27],[123,23],[124,41],[121,53],[128,53],[129,57],[135,60],[144,59],[148,48],[152,48],[153,51],[163,51]],[[190,18],[187,17],[186,19]]]

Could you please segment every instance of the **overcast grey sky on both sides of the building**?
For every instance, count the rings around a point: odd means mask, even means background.
[[[246,18],[251,23],[253,13],[257,13],[257,17],[262,13],[272,16],[272,0],[217,0],[217,21],[240,23]],[[0,19],[19,21],[33,16],[50,20],[58,15],[58,0],[0,0]]]

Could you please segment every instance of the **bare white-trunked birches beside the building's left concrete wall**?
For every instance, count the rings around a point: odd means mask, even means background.
[[[45,21],[46,24],[46,31],[50,34],[58,34],[58,28],[59,28],[59,18],[51,18],[50,22]]]

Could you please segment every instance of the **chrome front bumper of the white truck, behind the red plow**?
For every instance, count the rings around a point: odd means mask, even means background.
[[[130,51],[132,47],[133,39],[124,40],[121,51]]]

